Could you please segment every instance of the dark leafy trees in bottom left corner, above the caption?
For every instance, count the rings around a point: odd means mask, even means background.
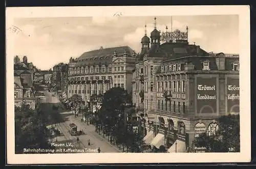
[[[33,110],[24,102],[14,108],[15,153],[24,153],[24,148],[50,148],[50,131],[46,128],[46,117],[39,109]]]

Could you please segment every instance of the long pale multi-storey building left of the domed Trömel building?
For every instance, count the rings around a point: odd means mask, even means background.
[[[70,59],[68,98],[74,94],[88,101],[93,94],[103,94],[113,87],[132,91],[136,54],[129,46],[100,48]]]

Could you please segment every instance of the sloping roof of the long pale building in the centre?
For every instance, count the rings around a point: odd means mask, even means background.
[[[101,48],[98,50],[92,50],[84,52],[79,58],[77,58],[77,63],[75,66],[82,65],[95,65],[95,64],[111,64],[114,51],[117,52],[117,55],[123,55],[124,50],[126,50],[127,55],[132,55],[133,49],[129,46],[119,46],[111,48]]]

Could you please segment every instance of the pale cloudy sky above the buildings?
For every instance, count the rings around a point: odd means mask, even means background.
[[[188,42],[196,43],[208,52],[239,53],[238,15],[156,16],[157,30],[186,31]],[[172,22],[173,20],[173,22]],[[15,55],[26,55],[41,70],[58,63],[68,63],[90,50],[128,45],[137,53],[141,38],[154,29],[154,17],[56,17],[19,18],[14,25],[20,29],[15,35]],[[171,26],[173,25],[173,26]],[[14,56],[13,56],[14,57]],[[44,61],[44,62],[42,62]]]

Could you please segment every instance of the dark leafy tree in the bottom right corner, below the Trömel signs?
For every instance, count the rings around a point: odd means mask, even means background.
[[[221,116],[217,122],[216,135],[202,133],[194,141],[196,147],[205,147],[208,152],[240,152],[239,115]]]

